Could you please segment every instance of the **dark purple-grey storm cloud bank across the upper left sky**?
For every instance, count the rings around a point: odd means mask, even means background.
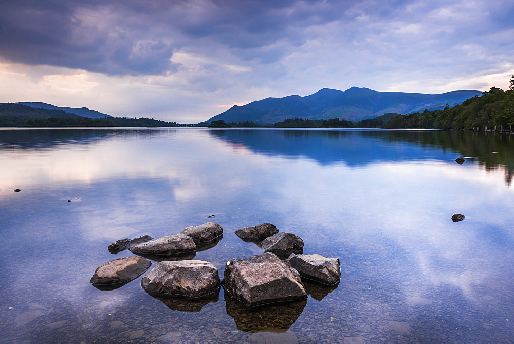
[[[352,1],[75,1],[0,3],[0,56],[29,65],[82,68],[111,75],[163,74],[182,48],[258,49],[336,20]],[[235,50],[235,51],[234,51]],[[240,51],[241,50],[241,51]],[[281,52],[253,51],[274,61]]]

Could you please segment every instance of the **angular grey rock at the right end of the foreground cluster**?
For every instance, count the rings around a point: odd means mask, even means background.
[[[322,255],[295,255],[287,259],[301,277],[323,284],[336,284],[341,280],[339,259]]]

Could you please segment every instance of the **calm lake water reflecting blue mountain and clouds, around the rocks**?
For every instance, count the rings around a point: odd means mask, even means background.
[[[0,130],[0,341],[245,342],[273,328],[289,330],[277,343],[512,342],[513,171],[500,133]],[[259,310],[223,289],[188,303],[146,294],[141,277],[89,284],[132,256],[109,243],[210,215],[223,239],[195,259],[221,276],[262,254],[234,230],[270,222],[339,258],[340,284]]]

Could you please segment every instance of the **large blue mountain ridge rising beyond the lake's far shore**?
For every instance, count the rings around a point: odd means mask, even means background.
[[[359,121],[386,113],[406,114],[431,106],[461,103],[482,91],[461,90],[441,94],[378,92],[369,88],[352,87],[345,91],[323,88],[309,96],[266,98],[229,110],[208,119],[205,123],[224,120],[227,123],[252,121],[272,124],[287,118],[310,120],[339,118]],[[441,105],[442,104],[442,105]]]

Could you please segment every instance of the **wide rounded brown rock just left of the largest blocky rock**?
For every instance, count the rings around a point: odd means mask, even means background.
[[[160,262],[143,277],[141,286],[148,293],[205,297],[218,291],[218,269],[202,260]]]

